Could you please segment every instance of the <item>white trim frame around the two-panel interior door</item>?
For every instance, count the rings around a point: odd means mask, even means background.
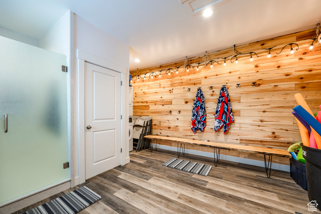
[[[78,78],[76,78],[78,87],[76,91],[78,92],[77,101],[75,102],[75,110],[78,112],[78,115],[75,118],[75,138],[78,138],[78,172],[79,177],[75,177],[75,185],[82,184],[85,182],[85,62],[98,65],[116,72],[121,73],[121,81],[123,82],[123,87],[121,87],[121,148],[123,152],[121,153],[121,165],[129,163],[129,148],[126,146],[126,140],[128,141],[128,128],[129,128],[129,119],[128,119],[128,95],[126,91],[128,90],[127,79],[129,77],[129,69],[125,66],[110,62],[106,59],[100,58],[98,56],[92,55],[85,51],[76,50],[76,58],[78,65]],[[127,99],[127,100],[126,100]],[[127,112],[127,113],[126,113]],[[77,123],[78,120],[78,123]],[[77,127],[77,128],[76,128]],[[127,130],[127,132],[126,132]],[[77,133],[76,133],[77,132]],[[75,139],[75,142],[77,140]],[[126,148],[127,147],[127,148]],[[128,155],[127,155],[128,153]],[[127,157],[128,156],[128,157]],[[77,176],[77,175],[75,175]]]

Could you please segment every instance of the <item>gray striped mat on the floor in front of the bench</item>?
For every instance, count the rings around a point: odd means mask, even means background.
[[[195,163],[192,161],[181,160],[177,158],[170,158],[168,161],[162,164],[165,167],[171,167],[175,169],[180,169],[183,171],[195,173],[198,175],[207,176],[212,166],[206,164]]]

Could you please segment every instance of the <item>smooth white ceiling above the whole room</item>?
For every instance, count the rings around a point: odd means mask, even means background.
[[[320,0],[230,0],[204,18],[178,0],[1,0],[0,26],[40,38],[71,10],[129,44],[135,70],[314,28],[320,9]]]

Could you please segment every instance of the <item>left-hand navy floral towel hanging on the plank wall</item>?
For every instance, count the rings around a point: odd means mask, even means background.
[[[191,129],[196,133],[197,129],[204,132],[206,126],[206,111],[205,111],[205,97],[201,89],[197,89],[193,112],[192,112],[192,126]]]

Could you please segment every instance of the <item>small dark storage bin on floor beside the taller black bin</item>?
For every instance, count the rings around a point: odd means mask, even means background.
[[[305,171],[305,164],[300,161],[290,158],[290,175],[291,178],[299,184],[304,190],[308,190],[307,174]]]

